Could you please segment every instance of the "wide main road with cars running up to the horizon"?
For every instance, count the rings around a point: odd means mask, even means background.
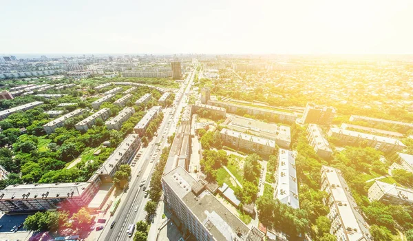
[[[126,201],[120,204],[120,207],[118,207],[118,210],[114,214],[114,217],[110,218],[107,221],[108,225],[106,225],[105,230],[103,230],[104,233],[100,237],[100,240],[123,241],[129,239],[127,235],[127,227],[129,226],[129,224],[135,224],[144,212],[143,209],[148,199],[145,198],[145,191],[143,191],[143,187],[149,187],[151,174],[153,172],[155,164],[159,160],[163,147],[167,145],[167,137],[169,136],[169,134],[176,132],[176,124],[178,123],[181,109],[186,100],[186,98],[184,97],[184,92],[189,92],[194,76],[195,70],[188,75],[187,81],[185,81],[185,84],[187,85],[182,85],[180,90],[178,90],[178,92],[176,93],[176,109],[174,110],[172,107],[169,107],[164,110],[164,119],[158,129],[158,136],[151,140],[148,148],[145,149],[144,153],[141,154],[140,161],[143,160],[141,167],[142,173],[140,174],[140,176],[138,176],[138,178],[132,178],[131,183],[129,183],[129,189],[127,190],[126,196],[123,195],[122,198]],[[162,136],[164,137],[162,138]],[[158,145],[156,145],[156,143],[160,144],[159,147]],[[156,149],[158,148],[160,150],[156,151]],[[153,161],[153,163],[150,163],[152,158],[155,158],[155,161]],[[150,169],[150,175],[145,176],[145,173],[148,173],[148,167]],[[132,171],[132,177],[136,176],[137,174],[138,168]],[[142,178],[144,177],[147,178],[145,185],[139,187],[140,182],[142,182]],[[145,202],[142,202],[144,200]],[[135,211],[137,206],[139,206],[138,211]],[[114,220],[116,220],[116,224],[114,225],[113,229],[110,229],[110,224],[112,224]]]

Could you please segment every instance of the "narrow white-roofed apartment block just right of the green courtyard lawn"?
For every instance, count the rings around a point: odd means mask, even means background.
[[[294,151],[279,149],[274,197],[294,209],[299,209],[295,156],[297,154]]]

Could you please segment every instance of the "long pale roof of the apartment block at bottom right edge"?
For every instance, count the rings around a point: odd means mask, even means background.
[[[346,235],[348,240],[357,241],[363,237],[370,237],[368,225],[359,213],[359,208],[350,194],[346,180],[339,174],[339,170],[323,166],[328,182],[328,187],[331,191],[332,200],[337,207],[343,228],[348,230]],[[366,240],[370,240],[367,238]]]

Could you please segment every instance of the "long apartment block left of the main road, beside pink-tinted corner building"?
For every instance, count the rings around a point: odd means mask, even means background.
[[[140,147],[140,138],[136,134],[129,134],[118,145],[116,150],[105,160],[102,167],[96,171],[102,182],[112,182],[115,172],[120,165],[127,164],[134,157]]]

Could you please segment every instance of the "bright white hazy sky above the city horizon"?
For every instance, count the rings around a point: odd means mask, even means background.
[[[413,54],[413,1],[0,0],[3,53]]]

